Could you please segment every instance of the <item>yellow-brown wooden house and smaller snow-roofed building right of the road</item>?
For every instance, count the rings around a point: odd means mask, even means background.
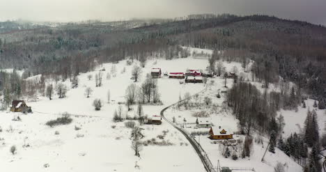
[[[210,128],[209,138],[212,140],[233,139],[233,132],[231,130],[226,130],[221,126],[212,126],[209,118],[197,118],[196,127]]]

